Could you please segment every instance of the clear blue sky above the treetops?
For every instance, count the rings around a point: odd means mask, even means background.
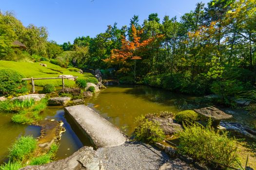
[[[140,23],[151,13],[161,20],[165,15],[179,18],[199,1],[210,0],[0,0],[0,10],[14,12],[24,26],[47,27],[49,40],[62,44],[82,35],[94,37],[114,22],[129,26],[134,15]]]

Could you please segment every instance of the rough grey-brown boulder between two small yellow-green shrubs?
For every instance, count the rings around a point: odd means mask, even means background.
[[[151,120],[160,125],[165,135],[173,135],[183,130],[180,124],[173,122],[172,118],[152,118]]]

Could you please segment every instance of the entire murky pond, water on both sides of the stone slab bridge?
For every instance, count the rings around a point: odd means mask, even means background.
[[[85,100],[85,105],[96,110],[102,117],[115,124],[126,135],[130,136],[135,129],[136,117],[159,111],[181,111],[179,105],[193,101],[197,97],[181,95],[163,89],[140,85],[113,85],[96,93]],[[238,114],[239,115],[239,114]],[[60,140],[57,159],[65,158],[76,152],[82,146],[91,146],[88,138],[79,133],[75,126],[65,119],[62,107],[47,107],[41,115],[43,118],[62,120],[66,131]],[[39,136],[37,126],[17,125],[11,122],[10,113],[0,113],[0,162],[6,159],[8,148],[19,136]],[[236,118],[239,117],[235,116]],[[243,119],[251,119],[248,115]],[[256,121],[250,122],[256,124]],[[72,127],[72,128],[71,128]]]

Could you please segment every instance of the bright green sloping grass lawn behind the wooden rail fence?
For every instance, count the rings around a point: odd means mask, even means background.
[[[46,64],[47,67],[40,66],[39,64]],[[80,74],[76,71],[69,71],[67,68],[61,68],[57,65],[49,63],[47,61],[36,62],[36,63],[28,63],[28,62],[15,62],[15,61],[3,61],[0,60],[0,68],[11,68],[14,69],[21,74],[23,74],[26,78],[42,78],[42,77],[59,77],[59,75],[73,75],[82,77],[94,77],[91,73]],[[65,86],[73,86],[75,85],[75,81],[65,79]],[[28,81],[28,83],[30,83]],[[52,80],[35,80],[35,85],[43,86],[46,84],[53,84],[55,86],[61,86],[61,79],[52,79]]]

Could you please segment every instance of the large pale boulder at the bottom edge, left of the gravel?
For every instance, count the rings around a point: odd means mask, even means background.
[[[71,156],[45,165],[27,166],[20,170],[104,170],[92,147],[84,146]]]

